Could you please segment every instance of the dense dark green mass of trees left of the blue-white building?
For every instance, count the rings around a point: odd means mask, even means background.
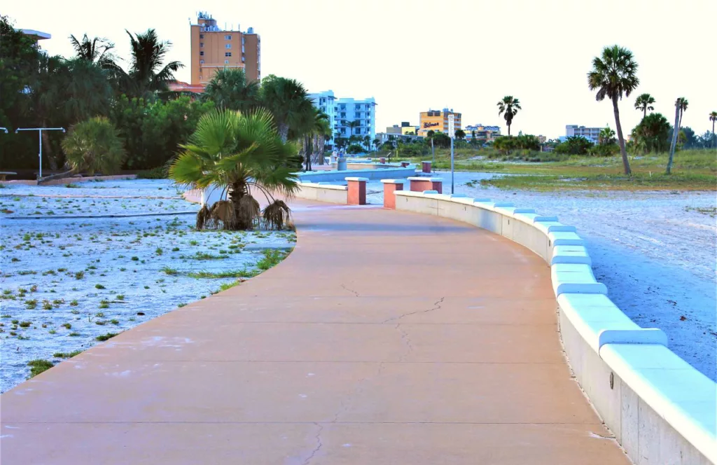
[[[328,116],[313,107],[297,80],[270,75],[258,83],[247,81],[241,69],[224,69],[201,95],[171,92],[174,73],[184,67],[166,62],[171,42],[161,40],[154,29],[127,35],[130,57],[123,67],[115,44],[107,39],[72,35],[74,56],[50,56],[8,17],[0,17],[0,127],[69,129],[83,121],[109,123],[125,154],[120,167],[141,170],[176,156],[201,116],[212,109],[248,113],[264,108],[282,141],[297,144],[298,160],[307,166],[323,162],[323,145],[331,134]],[[63,137],[60,131],[42,131],[43,161],[49,169],[69,167]],[[0,137],[0,166],[36,167],[37,137]]]

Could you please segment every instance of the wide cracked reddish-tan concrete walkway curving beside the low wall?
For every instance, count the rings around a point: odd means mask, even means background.
[[[2,464],[628,463],[571,380],[538,256],[293,207],[280,266],[2,395]]]

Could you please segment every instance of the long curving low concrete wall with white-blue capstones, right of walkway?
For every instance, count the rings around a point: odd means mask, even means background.
[[[551,267],[565,352],[577,382],[637,465],[717,463],[717,384],[607,297],[575,227],[509,202],[394,190],[397,210],[503,235]]]

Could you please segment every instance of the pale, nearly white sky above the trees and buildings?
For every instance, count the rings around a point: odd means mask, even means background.
[[[72,55],[67,37],[108,37],[128,58],[124,29],[150,27],[187,67],[189,19],[208,11],[218,24],[254,27],[262,38],[262,75],[300,80],[310,92],[376,98],[376,131],[420,111],[453,108],[464,126],[498,125],[503,95],[521,100],[512,133],[565,135],[566,124],[614,128],[612,105],[587,88],[592,58],[610,44],[640,65],[640,87],[620,103],[625,133],[633,108],[652,94],[655,111],[674,119],[675,98],[689,100],[683,126],[711,129],[717,111],[717,0],[86,0],[6,1],[15,26],[52,34],[51,54]]]

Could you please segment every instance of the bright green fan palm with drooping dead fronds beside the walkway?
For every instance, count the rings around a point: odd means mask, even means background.
[[[295,149],[277,133],[272,115],[259,109],[247,115],[216,110],[197,123],[189,144],[169,168],[178,184],[204,189],[210,184],[226,189],[229,199],[197,214],[196,227],[228,230],[252,228],[263,217],[266,227],[283,227],[289,208],[272,192],[291,195],[298,188],[290,166]],[[263,192],[270,202],[261,214],[251,189]]]

